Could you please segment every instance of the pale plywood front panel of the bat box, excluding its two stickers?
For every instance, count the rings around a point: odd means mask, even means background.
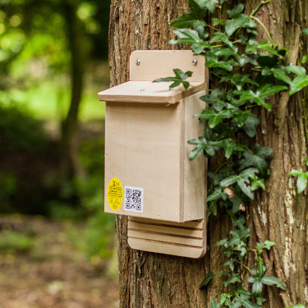
[[[105,212],[180,220],[180,111],[178,104],[106,103]],[[112,178],[143,188],[143,212],[129,211],[125,194],[119,209],[109,206]]]

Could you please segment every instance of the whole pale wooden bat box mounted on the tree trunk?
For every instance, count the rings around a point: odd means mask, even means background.
[[[185,91],[172,69],[192,71]],[[187,141],[203,135],[194,115],[208,87],[203,56],[134,51],[129,81],[99,92],[105,111],[106,213],[128,215],[132,248],[201,257],[205,253],[206,158],[190,161]]]

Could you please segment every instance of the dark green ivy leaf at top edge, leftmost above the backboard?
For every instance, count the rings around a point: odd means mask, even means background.
[[[190,8],[190,13],[179,16],[170,26],[175,28],[193,27],[194,29],[198,26],[205,27],[207,24],[201,19],[205,16],[207,10],[193,0],[188,1],[188,6]]]

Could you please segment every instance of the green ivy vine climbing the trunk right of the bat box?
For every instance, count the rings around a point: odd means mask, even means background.
[[[191,160],[201,154],[214,156],[218,151],[223,151],[226,158],[216,172],[207,173],[210,180],[205,200],[208,216],[216,215],[217,207],[225,207],[234,226],[228,238],[216,243],[224,247],[222,253],[228,259],[224,264],[225,270],[219,274],[225,277],[224,286],[229,292],[222,293],[219,300],[213,299],[210,308],[259,308],[266,301],[261,296],[264,285],[276,285],[282,290],[286,290],[286,286],[278,278],[265,274],[261,255],[275,243],[267,240],[257,243],[255,249],[247,247],[250,231],[246,227],[245,209],[249,200],[254,199],[257,189],[265,190],[272,154],[271,148],[254,143],[259,120],[251,108],[260,106],[270,111],[269,97],[278,96],[282,91],[293,95],[308,85],[308,75],[302,66],[286,65],[288,51],[273,41],[265,25],[254,16],[263,4],[271,0],[262,0],[255,8],[251,7],[250,15],[243,14],[244,4],[238,4],[232,10],[226,10],[228,19],[222,19],[225,1],[189,0],[190,12],[171,24],[176,28],[173,32],[178,39],[169,43],[189,44],[196,55],[204,55],[205,65],[210,68],[210,78],[218,78],[221,83],[219,88],[208,89],[210,93],[200,97],[208,105],[195,115],[205,123],[204,135],[188,141],[195,145],[189,155]],[[208,12],[214,11],[218,18],[205,22]],[[268,41],[257,41],[257,23],[268,35]],[[210,39],[209,30],[212,31]],[[308,34],[308,29],[303,32]],[[308,56],[304,56],[302,63],[307,60]],[[174,73],[175,77],[160,78],[154,82],[172,81],[170,89],[180,84],[187,89],[190,85],[186,79],[192,72],[175,69]],[[249,138],[246,140],[249,141],[237,143],[237,136],[242,136],[239,134],[247,135]],[[298,175],[298,192],[303,191],[308,172],[293,170],[290,175]],[[253,269],[242,262],[248,250],[255,255]],[[243,287],[246,283],[242,281],[240,270],[249,272],[248,290]],[[209,272],[200,287],[207,285],[213,277],[213,272]]]

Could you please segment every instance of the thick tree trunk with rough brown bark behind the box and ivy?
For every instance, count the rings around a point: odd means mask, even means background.
[[[230,2],[230,1],[229,1]],[[234,6],[236,1],[228,6]],[[257,5],[255,1],[254,7]],[[247,10],[250,9],[247,1]],[[109,28],[109,63],[111,86],[128,80],[128,59],[134,50],[172,49],[169,24],[186,12],[185,0],[112,0]],[[290,50],[289,60],[298,61],[300,48],[306,52],[306,38],[301,28],[307,27],[308,2],[273,0],[263,5],[255,15],[269,29],[275,42]],[[260,27],[259,39],[268,39]],[[301,57],[300,57],[301,59]],[[288,291],[274,287],[265,291],[266,307],[283,307],[302,303],[307,306],[308,215],[306,193],[295,196],[295,179],[291,169],[305,168],[307,136],[306,97],[303,93],[275,102],[273,110],[259,113],[257,142],[273,148],[271,176],[267,190],[257,196],[247,210],[251,231],[249,245],[266,239],[275,241],[274,249],[264,259],[267,273],[286,282]],[[197,136],[196,136],[197,137]],[[221,158],[209,162],[215,168]],[[219,271],[225,262],[215,243],[227,236],[231,224],[226,213],[211,216],[208,224],[208,251],[204,258],[188,259],[132,250],[127,244],[127,218],[116,217],[116,236],[120,275],[120,308],[131,307],[208,307],[211,299],[219,301],[224,292]],[[247,264],[253,264],[253,256]],[[199,290],[205,275],[217,276],[208,287]],[[280,293],[279,293],[280,292]],[[281,294],[281,295],[279,295]]]

